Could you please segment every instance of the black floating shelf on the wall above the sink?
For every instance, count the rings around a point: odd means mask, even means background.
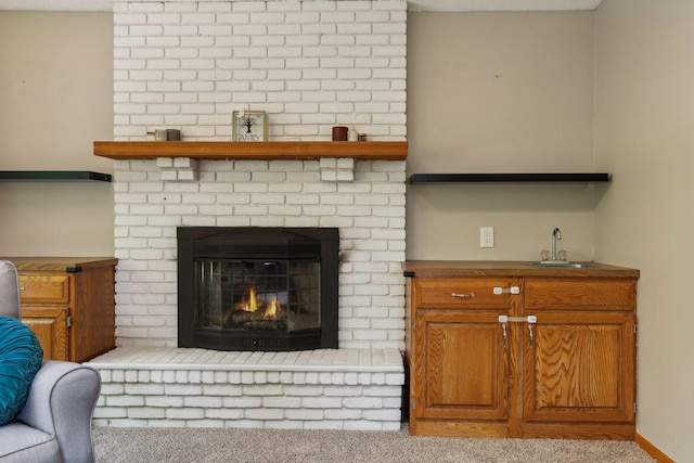
[[[410,183],[593,183],[608,173],[414,173]]]

